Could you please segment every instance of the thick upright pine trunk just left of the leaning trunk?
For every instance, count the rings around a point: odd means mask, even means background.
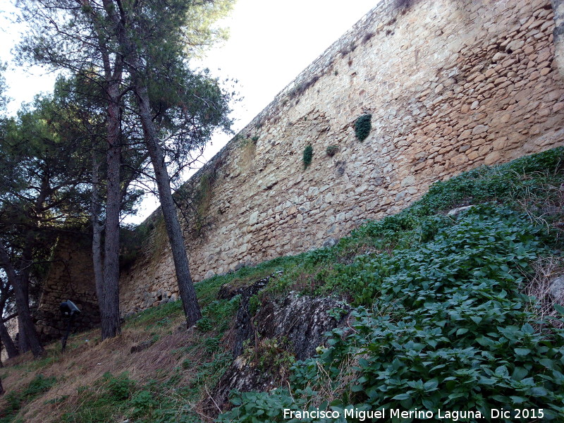
[[[119,212],[121,209],[121,143],[119,80],[108,87],[108,192],[106,197],[106,238],[104,243],[104,281],[99,299],[102,340],[121,332],[119,319]]]

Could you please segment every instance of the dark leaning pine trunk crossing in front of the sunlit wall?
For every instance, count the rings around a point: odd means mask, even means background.
[[[174,267],[176,269],[176,279],[178,281],[178,290],[180,298],[182,298],[186,324],[188,327],[196,323],[202,317],[200,306],[196,298],[196,291],[190,276],[190,267],[188,265],[188,256],[178,222],[178,215],[172,198],[170,179],[168,171],[164,163],[164,152],[159,145],[157,138],[157,130],[151,116],[151,107],[149,104],[149,94],[147,86],[143,84],[140,78],[135,78],[135,93],[137,94],[137,104],[139,106],[143,134],[145,135],[145,144],[154,168],[155,178],[157,179],[157,188],[159,189],[159,201],[163,211],[164,224],[168,241],[171,245]]]

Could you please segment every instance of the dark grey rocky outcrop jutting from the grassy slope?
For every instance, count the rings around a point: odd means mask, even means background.
[[[257,285],[249,288],[256,290]],[[205,405],[210,415],[228,407],[228,395],[233,390],[269,391],[280,386],[287,370],[283,367],[290,364],[285,357],[305,360],[315,355],[316,348],[326,341],[326,333],[345,321],[344,317],[334,317],[330,310],[346,310],[348,306],[333,298],[290,293],[266,302],[254,317],[248,313],[248,302],[247,306],[241,302],[241,308],[244,310],[237,316],[238,341],[234,348],[239,353]],[[243,345],[248,345],[247,350]]]

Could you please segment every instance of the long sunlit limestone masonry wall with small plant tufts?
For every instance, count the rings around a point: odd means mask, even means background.
[[[562,144],[553,27],[549,0],[383,1],[182,188],[200,213],[185,227],[195,280],[331,244],[436,180]],[[123,313],[178,295],[159,216],[146,227]]]

